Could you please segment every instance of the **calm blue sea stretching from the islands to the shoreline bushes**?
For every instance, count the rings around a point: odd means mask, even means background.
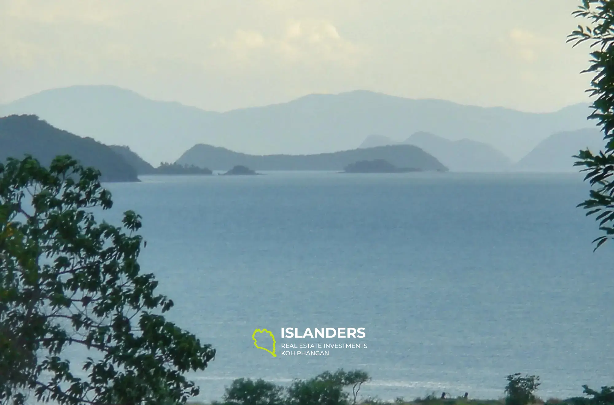
[[[515,372],[540,376],[544,399],[614,384],[614,244],[593,252],[579,174],[142,180],[107,184],[105,216],[142,215],[142,270],[173,299],[169,318],[216,348],[190,376],[200,400],[238,377],[288,384],[338,368],[367,371],[361,394],[380,399],[499,398]],[[366,336],[282,339],[286,327]],[[256,328],[274,333],[277,357],[254,346]],[[332,342],[367,347],[281,355]]]

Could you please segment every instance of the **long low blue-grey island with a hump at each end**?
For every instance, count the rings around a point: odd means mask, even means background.
[[[448,171],[436,158],[414,145],[380,146],[314,155],[247,155],[246,153],[198,144],[177,160],[178,164],[194,164],[213,170],[247,166],[254,170],[322,170],[340,171],[358,161],[386,160],[398,168],[422,171]]]

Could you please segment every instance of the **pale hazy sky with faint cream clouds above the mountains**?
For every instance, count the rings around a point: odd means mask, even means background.
[[[586,101],[580,0],[0,0],[0,102],[111,84],[211,110],[356,89]]]

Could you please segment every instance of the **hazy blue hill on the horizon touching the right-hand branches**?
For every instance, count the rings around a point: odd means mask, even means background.
[[[511,169],[522,172],[578,172],[573,166],[578,151],[589,149],[599,153],[605,148],[604,134],[599,129],[580,129],[552,134],[540,142]]]

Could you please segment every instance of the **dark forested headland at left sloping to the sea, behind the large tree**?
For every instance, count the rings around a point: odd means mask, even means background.
[[[55,128],[36,115],[0,118],[0,160],[32,155],[49,166],[57,155],[71,155],[101,171],[103,182],[138,182],[136,170],[107,145]]]

